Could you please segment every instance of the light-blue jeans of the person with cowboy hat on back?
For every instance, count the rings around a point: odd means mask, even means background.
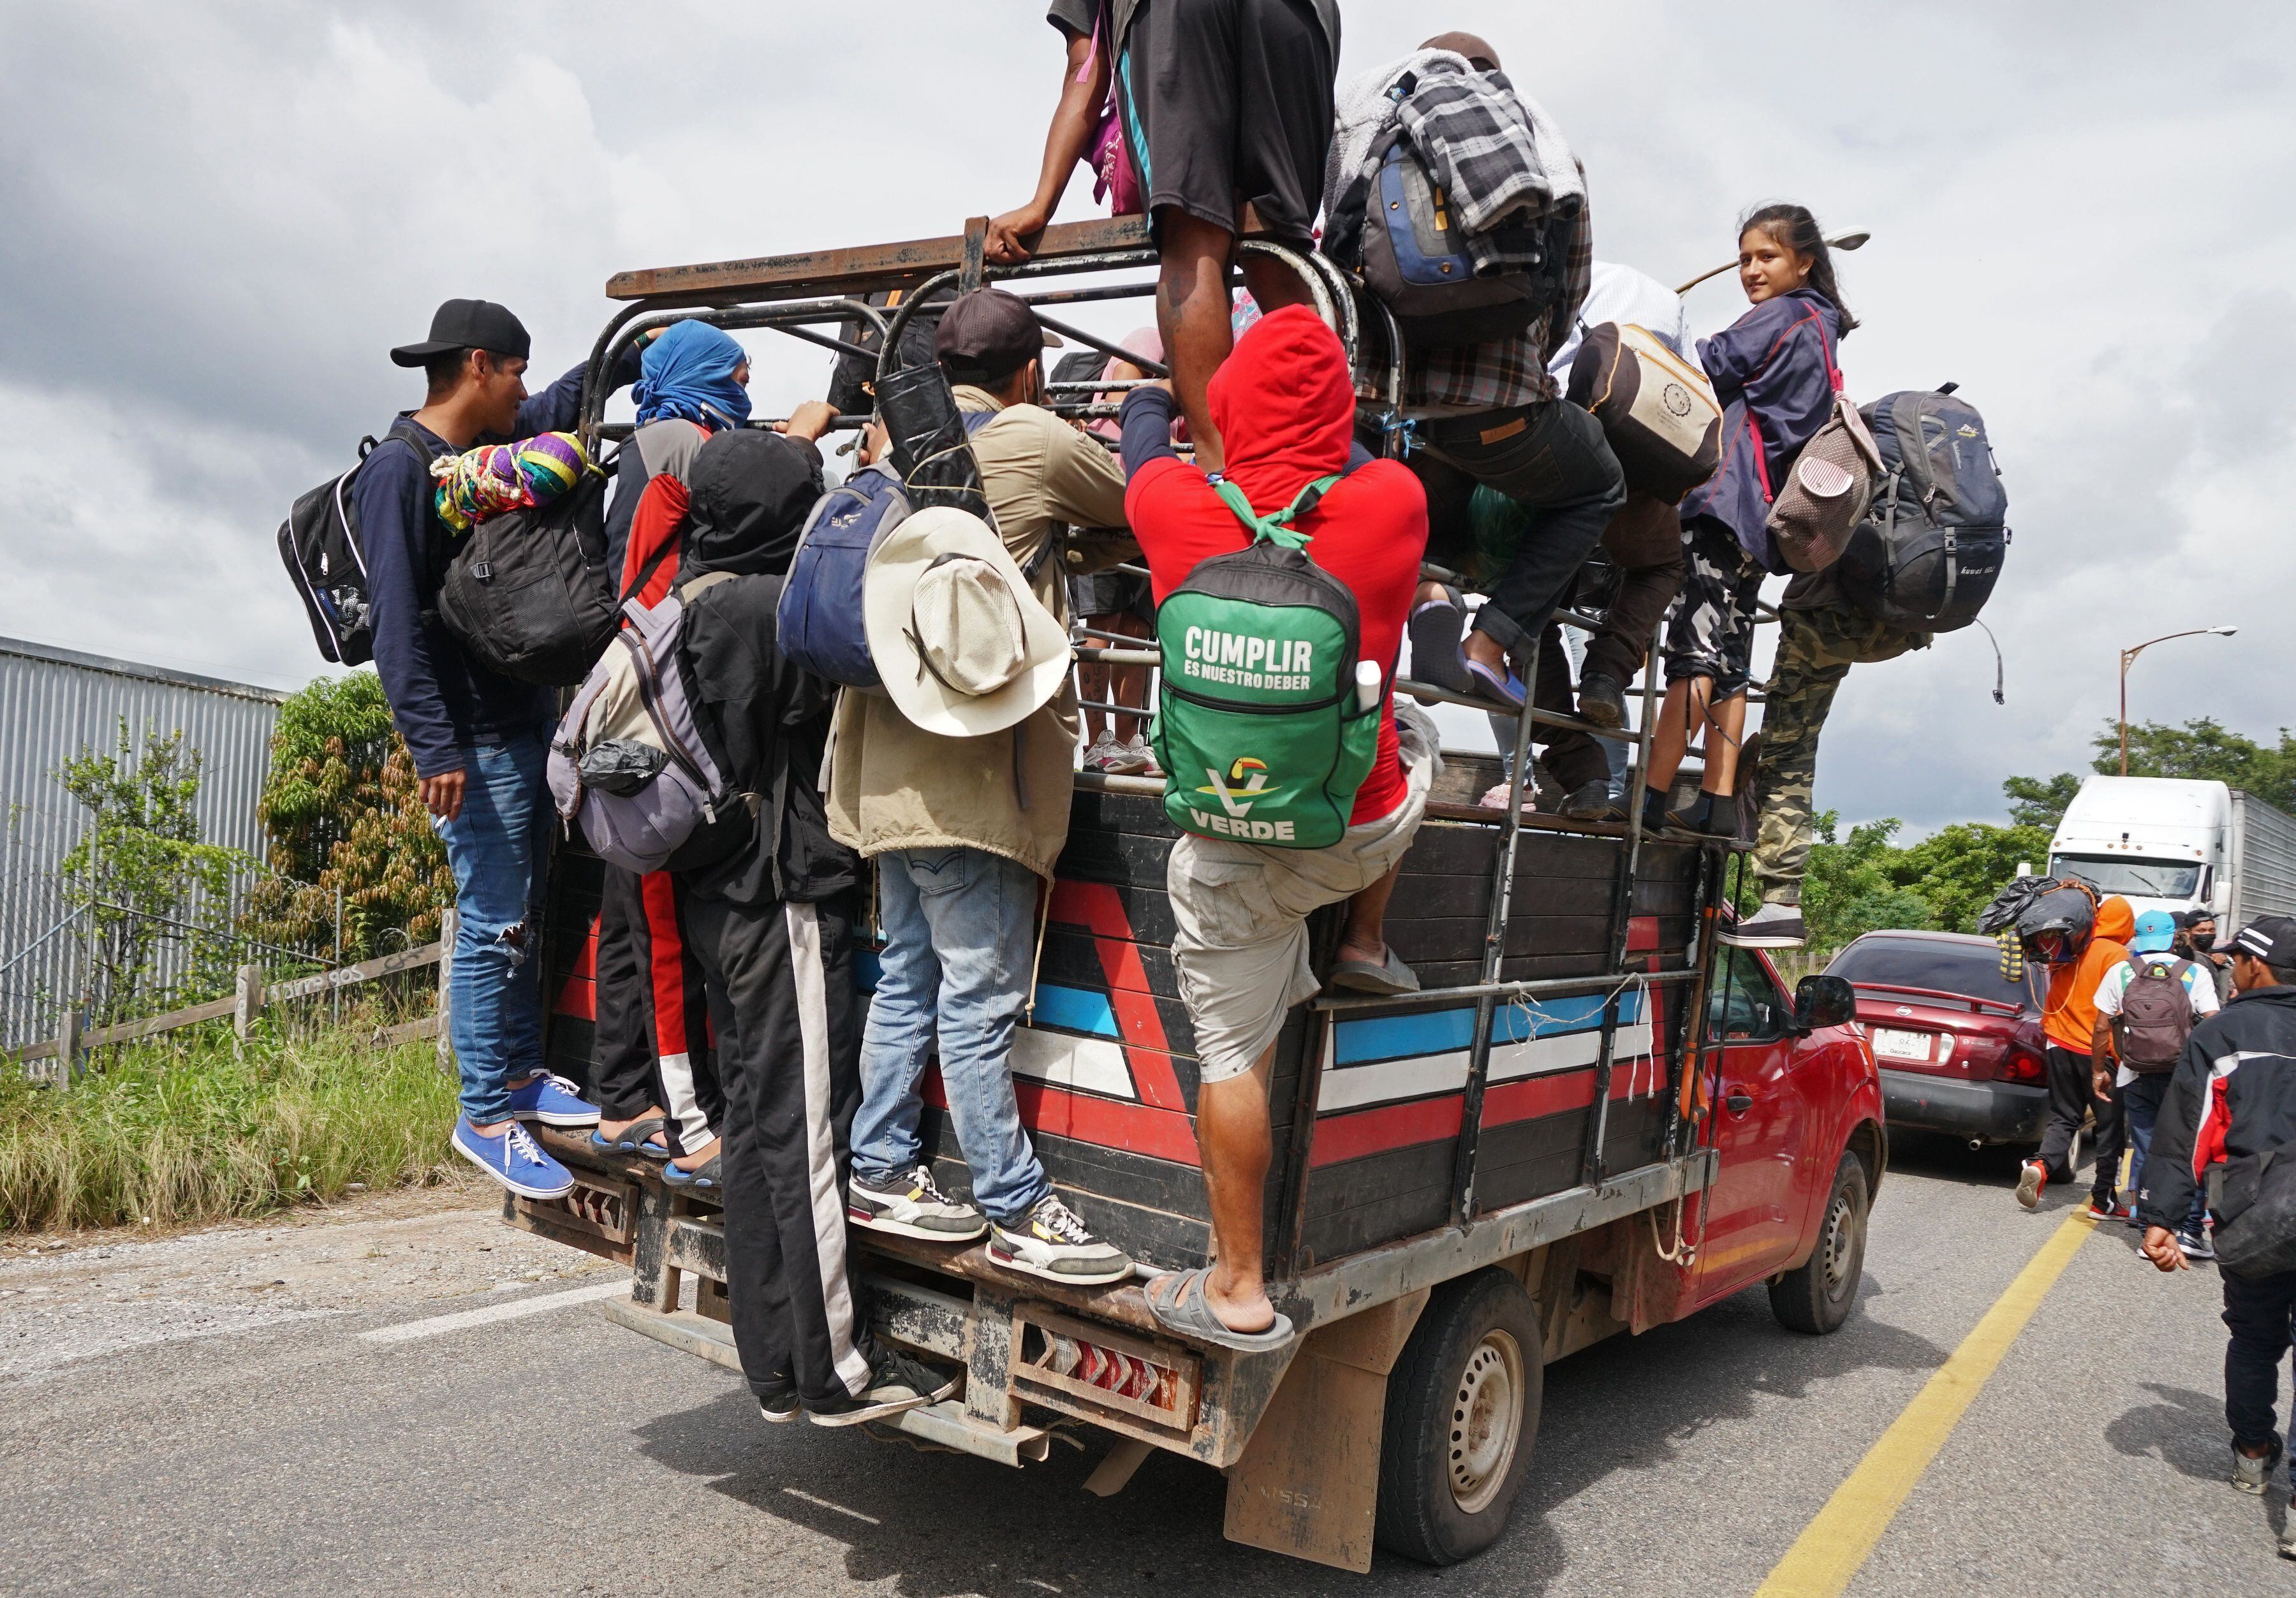
[[[884,953],[861,1031],[854,1180],[918,1164],[916,1091],[939,1042],[941,1088],[974,1203],[1017,1224],[1052,1192],[1013,1095],[1013,1029],[1029,1003],[1035,872],[987,850],[886,850],[877,856]]]

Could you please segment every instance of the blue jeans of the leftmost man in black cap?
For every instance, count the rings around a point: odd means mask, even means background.
[[[455,868],[455,971],[448,1038],[461,1065],[461,1114],[510,1118],[510,1081],[542,1070],[542,863],[551,792],[540,732],[464,748],[461,815],[432,817]]]

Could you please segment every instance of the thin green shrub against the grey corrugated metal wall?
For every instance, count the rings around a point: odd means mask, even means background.
[[[200,843],[200,751],[184,748],[181,730],[147,726],[138,755],[122,716],[113,753],[83,748],[55,781],[92,813],[60,866],[64,902],[94,923],[94,960],[71,999],[113,1022],[214,992],[236,960],[232,872],[253,861]],[[172,978],[163,969],[170,948],[186,951]]]

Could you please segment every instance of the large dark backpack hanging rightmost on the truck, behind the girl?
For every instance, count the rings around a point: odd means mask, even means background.
[[[1892,627],[1968,627],[2009,553],[2009,494],[1986,422],[1952,383],[1883,395],[1862,416],[1883,482],[1835,565],[1841,595]]]

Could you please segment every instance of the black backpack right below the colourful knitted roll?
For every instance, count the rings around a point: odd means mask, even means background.
[[[585,471],[549,505],[489,517],[461,540],[439,620],[487,670],[572,689],[606,652],[622,615],[606,572],[606,482]]]

